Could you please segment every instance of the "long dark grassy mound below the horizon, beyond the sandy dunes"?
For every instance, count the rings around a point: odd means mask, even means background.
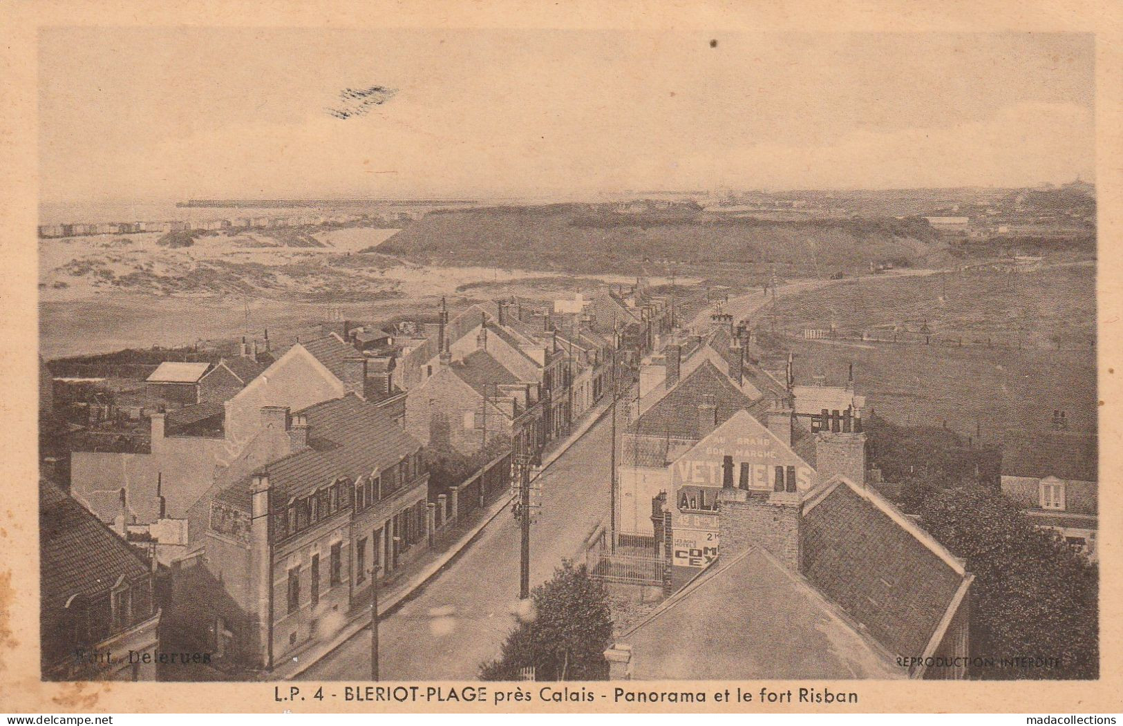
[[[621,214],[555,204],[440,212],[384,242],[383,252],[428,264],[518,266],[572,274],[683,274],[714,282],[864,270],[896,259],[920,266],[944,243],[923,222],[895,219],[772,222],[700,210]]]

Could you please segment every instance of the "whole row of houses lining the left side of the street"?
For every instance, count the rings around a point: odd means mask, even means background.
[[[43,570],[44,673],[153,678],[74,653],[154,651],[157,623],[161,649],[227,672],[268,671],[329,638],[450,516],[429,491],[426,447],[471,453],[490,436],[540,452],[603,397],[614,341],[665,324],[645,319],[657,301],[610,300],[603,318],[442,304],[408,336],[337,321],[284,351],[266,333],[236,356],[159,365],[144,382],[147,445],[73,451],[69,489],[44,483],[49,507],[72,515],[44,530],[45,551],[60,549]],[[89,570],[74,537],[97,540],[120,575]]]

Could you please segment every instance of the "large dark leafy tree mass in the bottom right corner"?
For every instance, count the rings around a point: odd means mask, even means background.
[[[971,665],[985,679],[1094,679],[1099,673],[1097,568],[1039,530],[1001,493],[932,491],[921,525],[975,575],[970,650],[977,658],[1051,658],[1058,668]]]

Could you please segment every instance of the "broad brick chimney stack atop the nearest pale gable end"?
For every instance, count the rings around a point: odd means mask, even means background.
[[[803,499],[798,493],[722,489],[718,503],[722,557],[730,558],[750,546],[760,546],[792,572],[800,571]]]

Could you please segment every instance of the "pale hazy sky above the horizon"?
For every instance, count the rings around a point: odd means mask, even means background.
[[[47,201],[1094,177],[1090,35],[62,28],[40,48]],[[327,113],[374,85],[396,94]]]

